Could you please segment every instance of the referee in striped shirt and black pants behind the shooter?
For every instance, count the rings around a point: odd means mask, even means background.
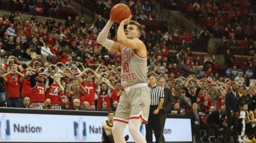
[[[150,108],[149,119],[146,124],[146,140],[147,143],[153,141],[152,129],[154,130],[155,142],[161,142],[161,128],[160,128],[160,115],[159,110],[163,106],[164,94],[163,89],[157,85],[157,78],[154,76],[149,77],[150,85]]]

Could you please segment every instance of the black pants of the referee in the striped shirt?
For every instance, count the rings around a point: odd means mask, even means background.
[[[148,124],[146,124],[146,140],[147,143],[151,143],[153,141],[153,131],[155,136],[155,142],[161,142],[161,127],[160,127],[160,116],[158,114],[154,114],[154,110],[157,109],[158,106],[150,106],[149,108],[149,120]]]

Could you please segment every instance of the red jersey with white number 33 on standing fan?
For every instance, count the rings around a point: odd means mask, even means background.
[[[31,99],[30,102],[44,102],[46,100],[46,89],[44,88],[44,83],[39,83],[36,81],[36,86],[31,88]]]

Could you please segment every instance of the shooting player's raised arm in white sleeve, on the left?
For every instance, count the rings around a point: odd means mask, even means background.
[[[107,39],[109,29],[111,28],[113,23],[114,21],[111,19],[111,16],[110,16],[110,19],[108,20],[107,24],[105,25],[101,33],[98,34],[97,43],[103,45],[107,49],[121,53],[120,45],[113,40]]]

